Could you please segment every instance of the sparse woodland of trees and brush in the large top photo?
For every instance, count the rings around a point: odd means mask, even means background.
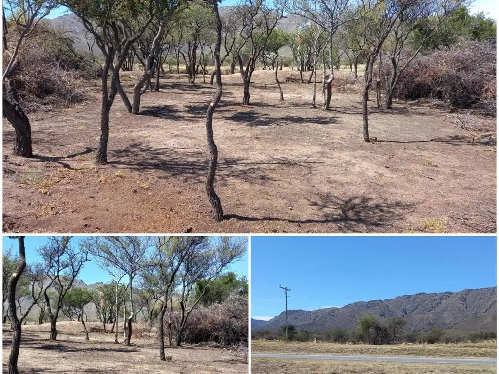
[[[168,108],[169,91],[161,89],[168,80],[164,77],[185,73],[193,90],[216,88],[198,97],[196,115],[206,132],[206,143],[197,145],[207,164],[203,200],[219,222],[232,213],[223,209],[216,189],[219,159],[225,157],[214,132],[220,106],[229,100],[224,76],[240,75],[243,113],[245,107],[267,105],[251,96],[258,70],[273,70],[275,86],[265,86],[267,96],[286,101],[283,69],[297,73],[310,92],[302,105],[316,108],[325,124],[332,110],[343,111],[334,108],[334,101],[343,92],[354,92],[361,102],[358,129],[368,143],[371,104],[380,108],[376,113],[389,115],[397,113],[394,100],[440,102],[462,115],[457,127],[495,139],[495,128],[467,116],[496,113],[496,23],[471,14],[465,2],[242,0],[223,11],[219,5],[216,0],[4,0],[3,116],[14,130],[8,139],[13,154],[36,158],[32,114],[84,102],[82,82],[90,79],[100,97],[99,121],[93,125],[100,137],[98,144],[86,147],[94,147],[96,164],[114,163],[121,150],[109,158],[110,128],[115,126],[111,109],[129,113],[129,123],[135,116],[149,116],[151,111],[141,105],[151,91],[160,92]],[[59,6],[80,20],[86,52],[76,51],[70,34],[45,21]],[[283,31],[280,25],[291,19],[297,25]],[[349,75],[338,76],[339,70]],[[133,88],[123,83],[130,72]]]

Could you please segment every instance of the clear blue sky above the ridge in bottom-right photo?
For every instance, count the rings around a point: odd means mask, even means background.
[[[494,287],[495,236],[251,237],[251,317]]]

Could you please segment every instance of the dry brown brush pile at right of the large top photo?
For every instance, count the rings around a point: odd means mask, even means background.
[[[389,64],[385,67],[390,69]],[[496,41],[463,42],[415,59],[403,72],[394,94],[406,100],[438,99],[495,116]]]

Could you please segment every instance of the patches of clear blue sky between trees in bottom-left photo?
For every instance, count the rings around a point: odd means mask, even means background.
[[[41,261],[40,256],[36,253],[36,249],[45,244],[46,240],[46,236],[25,237],[24,245],[26,247],[27,263]],[[72,240],[73,245],[77,246],[78,241],[81,240],[81,236],[75,236]],[[14,253],[18,253],[17,243],[17,239],[10,239],[7,236],[3,236],[3,251],[12,246]],[[248,252],[246,252],[246,255],[241,260],[231,264],[230,268],[227,271],[234,271],[238,276],[248,276]],[[92,284],[95,282],[109,282],[111,280],[111,276],[106,271],[97,266],[95,261],[86,262],[78,278],[82,279],[85,284]]]

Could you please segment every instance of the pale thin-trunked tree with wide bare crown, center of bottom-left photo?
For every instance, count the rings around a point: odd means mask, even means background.
[[[102,267],[115,268],[119,273],[128,276],[129,315],[126,320],[126,341],[130,345],[132,337],[133,306],[133,281],[139,272],[151,266],[151,239],[148,236],[100,236],[91,237],[84,242],[84,247],[96,257]],[[116,282],[116,288],[121,278]],[[118,292],[116,291],[116,297]],[[118,304],[118,303],[116,303]],[[117,314],[117,311],[116,311]]]

